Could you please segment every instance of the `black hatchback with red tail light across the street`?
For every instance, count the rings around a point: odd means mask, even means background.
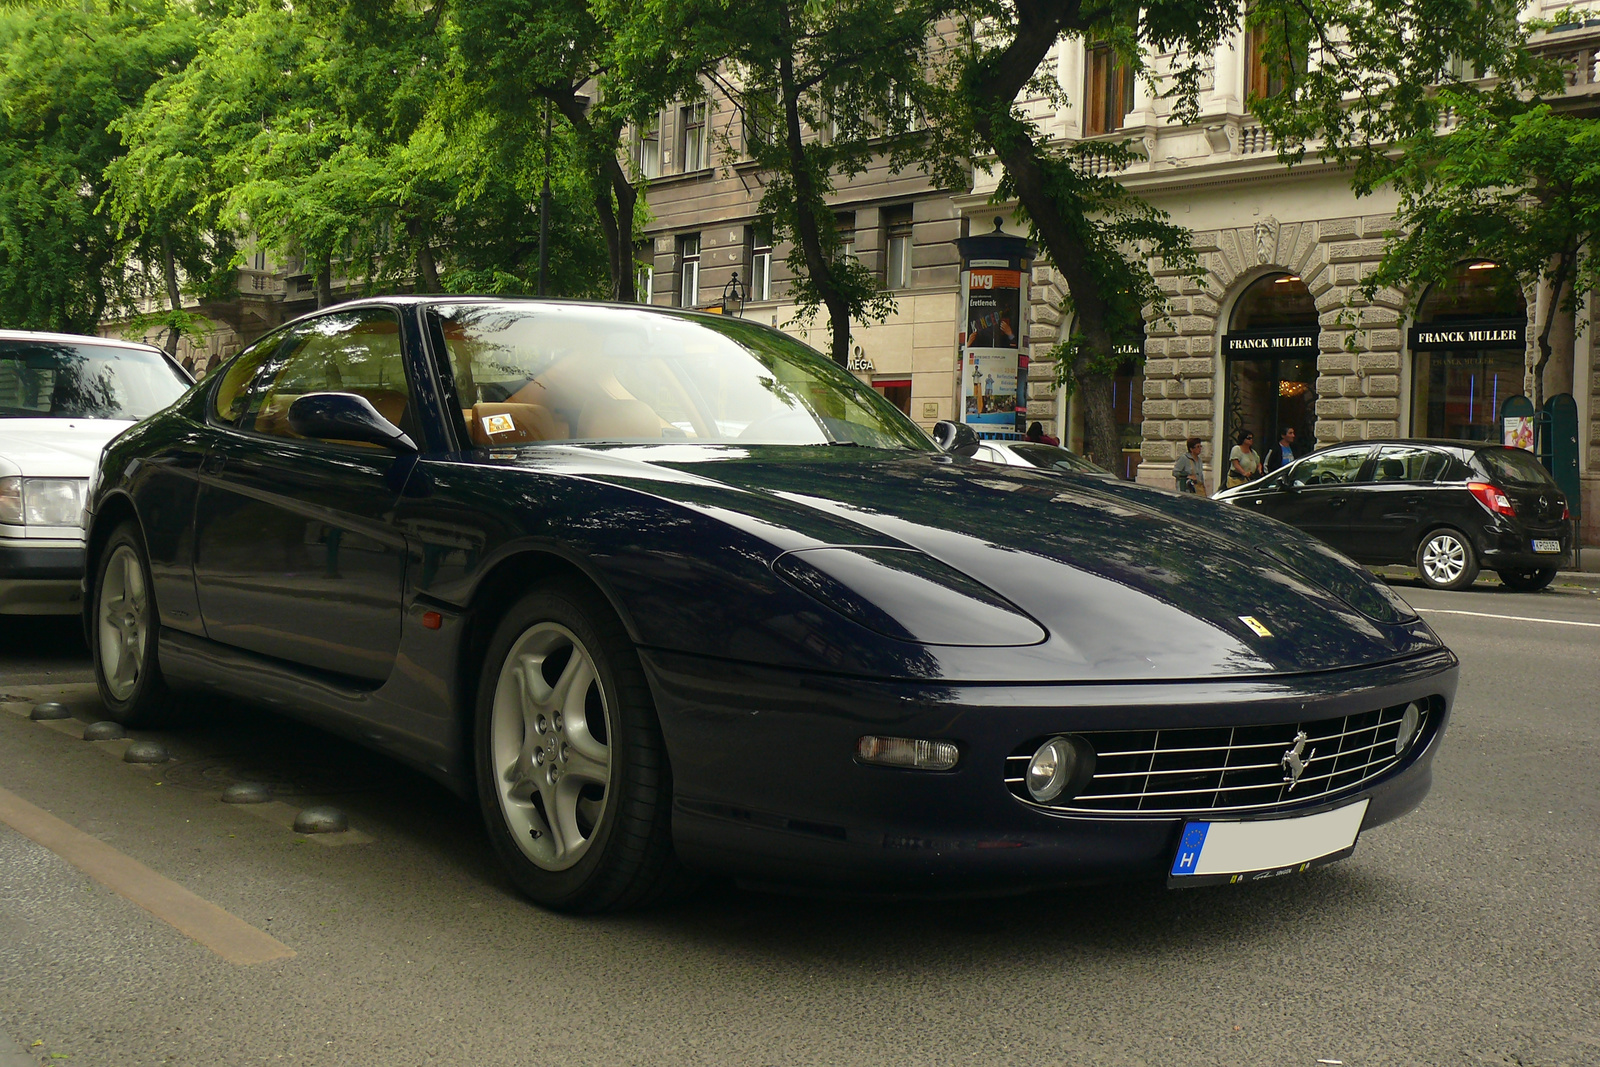
[[[1525,450],[1485,442],[1339,445],[1216,496],[1362,563],[1416,566],[1434,589],[1466,589],[1486,566],[1534,592],[1573,547],[1549,472]]]

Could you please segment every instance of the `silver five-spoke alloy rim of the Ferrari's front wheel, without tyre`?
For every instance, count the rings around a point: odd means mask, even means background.
[[[538,867],[565,870],[595,840],[611,784],[610,737],[594,656],[565,625],[528,627],[494,686],[490,766],[506,827]]]

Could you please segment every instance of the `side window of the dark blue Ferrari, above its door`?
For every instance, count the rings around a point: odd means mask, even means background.
[[[357,394],[402,430],[416,434],[400,322],[384,309],[363,307],[320,315],[288,331],[251,379],[237,424],[256,434],[298,437],[288,424],[290,405],[310,392]]]

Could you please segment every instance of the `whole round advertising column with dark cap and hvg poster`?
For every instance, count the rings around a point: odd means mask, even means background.
[[[1019,437],[1027,427],[1027,278],[1034,250],[1000,230],[963,237],[960,419],[979,437]]]

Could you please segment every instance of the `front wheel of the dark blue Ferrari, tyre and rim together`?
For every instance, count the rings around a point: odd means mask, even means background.
[[[525,681],[530,672],[541,681]],[[474,758],[490,840],[534,902],[621,910],[678,880],[654,701],[627,632],[592,587],[557,582],[506,611],[478,678]]]

